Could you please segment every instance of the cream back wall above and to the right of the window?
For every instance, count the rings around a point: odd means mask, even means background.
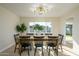
[[[24,22],[28,26],[29,22],[51,22],[53,35],[58,35],[60,31],[60,18],[53,17],[21,17],[20,22]]]

